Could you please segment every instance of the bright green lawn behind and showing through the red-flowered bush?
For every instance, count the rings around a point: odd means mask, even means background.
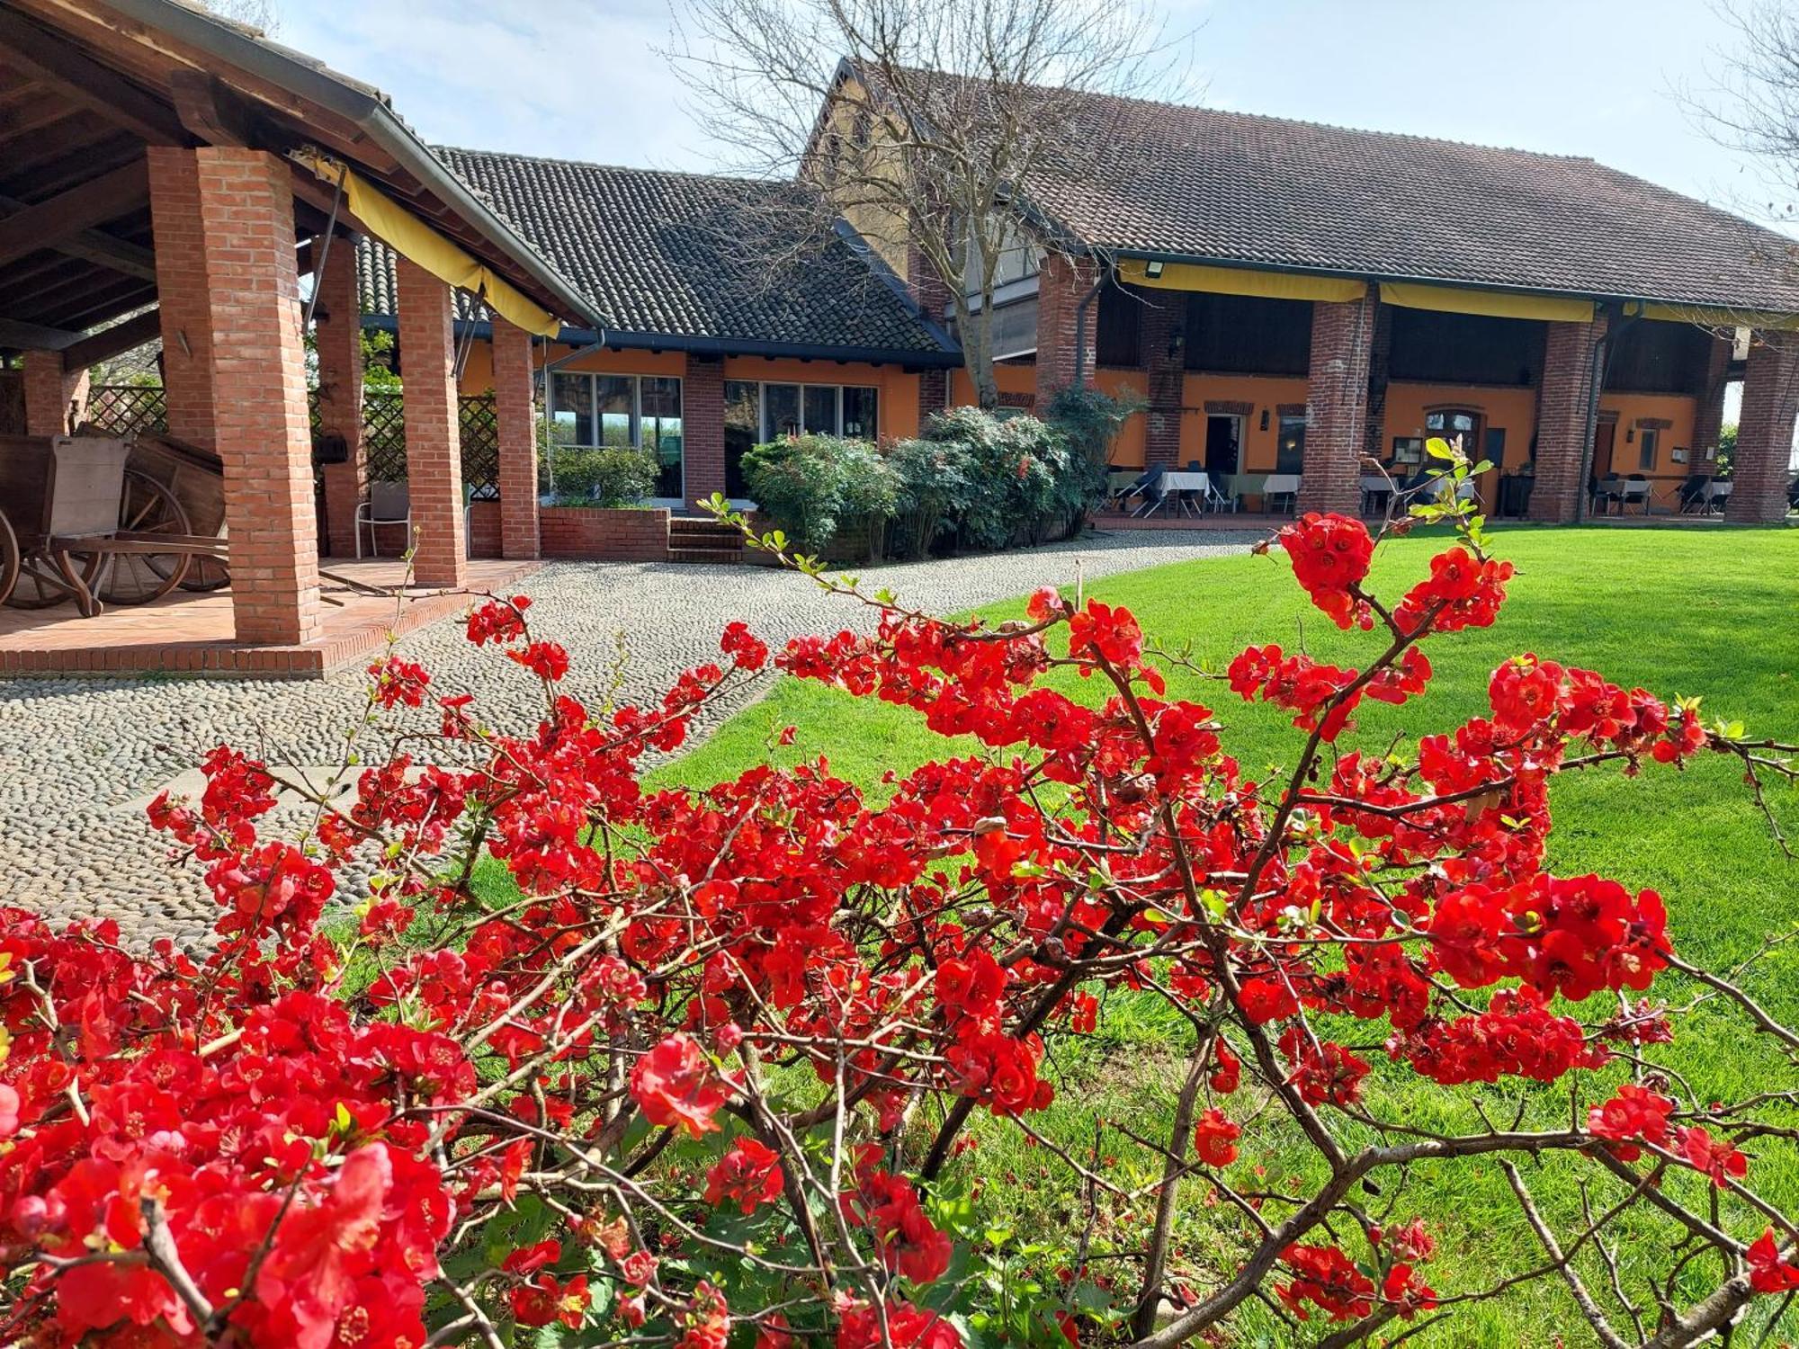
[[[1423,572],[1437,547],[1441,540],[1425,538],[1385,545],[1376,558],[1374,585],[1396,594]],[[1383,746],[1394,736],[1446,728],[1484,710],[1488,673],[1517,651],[1590,666],[1664,698],[1702,694],[1716,714],[1781,739],[1799,739],[1799,531],[1511,529],[1495,534],[1495,547],[1518,565],[1500,626],[1437,639],[1430,646],[1437,671],[1430,696],[1407,709],[1365,705],[1362,743]],[[1191,642],[1196,657],[1216,666],[1252,640],[1290,648],[1304,642],[1313,655],[1342,664],[1365,660],[1376,642],[1371,635],[1340,633],[1317,615],[1292,585],[1284,559],[1182,563],[1099,581],[1090,592],[1130,606],[1153,639]],[[1018,612],[1022,601],[982,610],[988,619]],[[1070,680],[1069,687],[1076,683]],[[1177,676],[1171,691],[1220,710],[1229,725],[1227,745],[1250,772],[1288,763],[1297,748],[1297,732],[1281,714],[1247,707],[1223,685],[1202,687],[1198,680]],[[799,728],[797,739],[777,748],[774,741],[786,725]],[[1344,743],[1351,739],[1355,736]],[[944,752],[912,712],[779,680],[765,701],[660,770],[657,779],[705,784],[761,759],[793,763],[826,755],[835,772],[878,799],[883,773],[903,773]],[[1689,959],[1729,964],[1752,953],[1770,932],[1799,919],[1799,867],[1779,856],[1723,759],[1702,759],[1686,773],[1650,772],[1637,781],[1616,773],[1569,775],[1554,788],[1554,806],[1553,865],[1569,874],[1598,871],[1632,887],[1659,889],[1669,903],[1677,946]],[[1788,833],[1799,835],[1799,800],[1783,793],[1777,808]],[[1799,951],[1785,950],[1747,980],[1756,996],[1788,1018],[1799,1016],[1795,964]],[[1684,993],[1668,984],[1662,996],[1678,1002]],[[1083,1149],[1090,1142],[1094,1101],[1117,1117],[1151,1119],[1168,1095],[1159,1068],[1169,1061],[1160,1050],[1169,1023],[1148,1005],[1117,1005],[1108,1025],[1110,1052],[1096,1050],[1058,1065],[1063,1099],[1074,1104],[1058,1104],[1047,1128]],[[1689,1018],[1678,1043],[1662,1052],[1695,1092],[1720,1099],[1752,1090],[1774,1061],[1763,1043],[1741,1034],[1740,1022],[1709,1009]],[[1409,1074],[1382,1070],[1371,1097],[1430,1117],[1448,1112],[1472,1124],[1464,1112],[1432,1104],[1448,1094],[1428,1090],[1430,1099],[1425,1099]],[[1493,1104],[1518,1095],[1518,1086],[1502,1085],[1486,1099]],[[1538,1104],[1558,1108],[1565,1119],[1565,1092]],[[1504,1104],[1495,1108],[1504,1112]],[[1245,1142],[1245,1164],[1266,1166],[1270,1184],[1310,1171],[1308,1158],[1274,1128],[1252,1131]],[[1049,1158],[1024,1149],[1015,1133],[989,1131],[975,1158],[989,1178],[989,1202],[1011,1207],[1022,1221],[1074,1221],[1067,1212],[1067,1187],[1045,1169]],[[1132,1164],[1130,1157],[1121,1160],[1126,1169]],[[1146,1166],[1148,1158],[1139,1157],[1135,1164]],[[1799,1166],[1790,1153],[1767,1151],[1752,1178],[1770,1198],[1799,1203]],[[1563,1223],[1578,1218],[1578,1194],[1560,1169],[1538,1175],[1538,1184],[1545,1205]],[[1202,1209],[1196,1185],[1193,1193],[1184,1237],[1189,1259],[1204,1268],[1207,1250],[1218,1248],[1216,1228],[1209,1225],[1216,1211]],[[1439,1257],[1430,1270],[1439,1291],[1468,1290],[1491,1279],[1495,1270],[1540,1259],[1495,1169],[1414,1173],[1409,1200],[1396,1216],[1410,1212],[1423,1212],[1439,1237]],[[1229,1255],[1220,1254],[1220,1259]],[[1626,1239],[1621,1250],[1626,1272],[1659,1268],[1662,1259],[1648,1239]],[[1598,1279],[1603,1284],[1603,1275]],[[1781,1329],[1792,1333],[1792,1327]],[[1240,1344],[1286,1342],[1279,1326],[1256,1309],[1247,1313],[1236,1335]],[[1311,1338],[1317,1335],[1322,1331]],[[1409,1340],[1439,1345],[1563,1342],[1580,1345],[1590,1336],[1560,1282],[1533,1284],[1497,1304],[1466,1309],[1446,1327]],[[1754,1336],[1743,1342],[1752,1344]]]

